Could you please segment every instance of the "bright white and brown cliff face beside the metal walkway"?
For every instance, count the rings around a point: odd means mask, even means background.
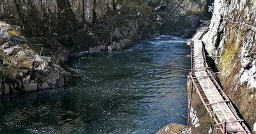
[[[213,8],[213,7],[212,7]],[[203,40],[228,96],[251,128],[256,122],[256,1],[216,0]],[[256,128],[253,128],[256,129]]]

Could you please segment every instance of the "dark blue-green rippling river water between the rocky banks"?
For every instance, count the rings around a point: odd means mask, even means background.
[[[0,97],[0,133],[156,133],[186,124],[186,39],[159,36],[70,60],[70,86]]]

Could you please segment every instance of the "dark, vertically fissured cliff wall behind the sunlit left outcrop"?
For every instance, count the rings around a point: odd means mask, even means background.
[[[22,26],[28,36],[72,33],[113,13],[111,0],[1,0],[0,5],[1,20]]]

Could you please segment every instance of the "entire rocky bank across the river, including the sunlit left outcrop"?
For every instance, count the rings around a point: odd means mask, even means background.
[[[118,50],[159,34],[189,36],[208,3],[1,1],[1,94],[64,86],[70,74],[60,64],[69,56]]]

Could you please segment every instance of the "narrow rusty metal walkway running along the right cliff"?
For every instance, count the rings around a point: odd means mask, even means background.
[[[195,89],[200,96],[207,112],[214,119],[216,128],[222,133],[251,133],[244,124],[244,120],[237,115],[232,102],[207,66],[202,43],[202,36],[207,30],[208,27],[201,27],[188,42],[191,47],[189,82],[191,82],[192,89]]]

